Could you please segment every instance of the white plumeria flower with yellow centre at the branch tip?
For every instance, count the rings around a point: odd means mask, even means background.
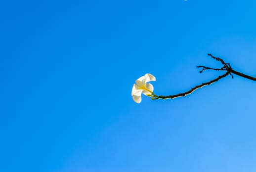
[[[136,84],[133,84],[131,96],[136,103],[141,102],[141,93],[144,95],[151,95],[153,93],[154,87],[150,83],[147,83],[149,81],[156,81],[156,78],[153,75],[147,73],[137,79],[135,81]]]

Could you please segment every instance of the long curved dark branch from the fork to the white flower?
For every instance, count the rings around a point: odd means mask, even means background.
[[[207,83],[202,83],[201,85],[198,85],[198,86],[195,86],[193,88],[191,88],[190,90],[184,92],[184,93],[179,93],[179,94],[175,94],[175,95],[168,95],[168,96],[163,96],[163,95],[155,95],[155,94],[152,94],[150,95],[151,96],[151,99],[155,100],[155,99],[174,99],[174,98],[177,98],[177,97],[181,97],[181,96],[186,96],[186,95],[189,95],[191,94],[192,92],[194,92],[195,90],[199,89],[199,88],[202,88],[203,86],[209,86],[215,82],[217,82],[218,80],[220,80],[221,78],[224,78],[226,77],[227,75],[229,74],[229,72],[226,72],[225,74],[223,75],[220,75],[218,76],[217,78],[215,78],[214,80],[211,80]]]

